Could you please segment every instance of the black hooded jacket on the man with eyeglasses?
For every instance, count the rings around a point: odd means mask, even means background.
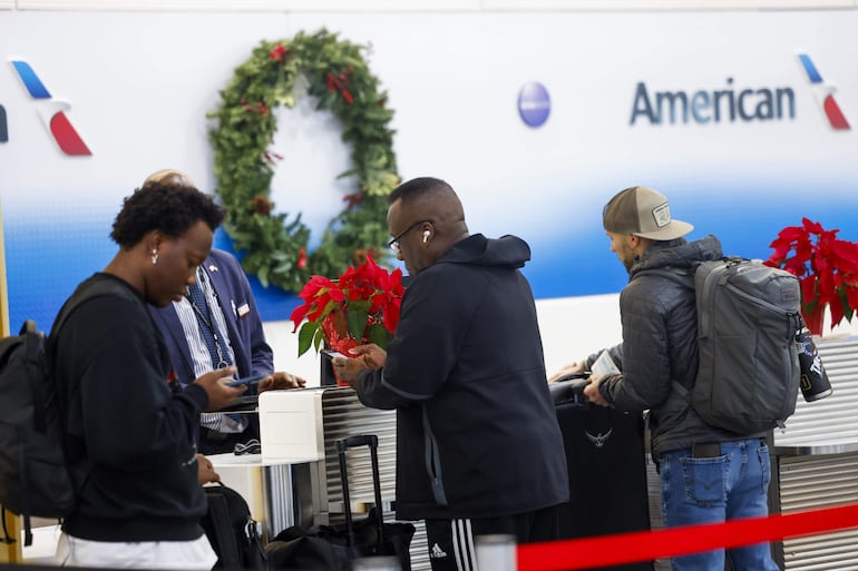
[[[533,293],[515,236],[474,235],[415,276],[365,405],[397,408],[397,516],[491,518],[568,499]]]

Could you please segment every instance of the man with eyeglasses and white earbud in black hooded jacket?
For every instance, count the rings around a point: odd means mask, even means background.
[[[397,518],[426,520],[433,571],[474,568],[474,538],[557,539],[568,499],[530,286],[530,248],[470,235],[454,189],[389,197],[390,247],[412,277],[387,352],[333,360],[361,402],[397,408]]]

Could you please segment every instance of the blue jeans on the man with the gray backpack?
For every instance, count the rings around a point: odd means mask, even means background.
[[[669,528],[769,514],[769,447],[760,439],[721,443],[721,455],[693,457],[690,449],[659,457],[662,513]],[[727,552],[733,571],[778,571],[768,543]],[[723,571],[724,550],[673,558],[673,571]]]

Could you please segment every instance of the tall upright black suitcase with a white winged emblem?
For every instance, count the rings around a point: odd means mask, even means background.
[[[649,531],[643,417],[589,404],[587,380],[572,376],[549,385],[569,472],[560,538]],[[601,569],[653,571],[653,563]]]

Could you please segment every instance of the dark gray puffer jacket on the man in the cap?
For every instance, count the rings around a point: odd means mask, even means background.
[[[690,387],[698,371],[698,325],[694,305],[694,267],[719,259],[714,236],[686,242],[677,238],[653,244],[628,272],[620,294],[623,344],[608,350],[622,374],[599,385],[605,400],[621,411],[650,410],[653,456],[696,443],[743,436],[704,423],[673,383]],[[688,285],[646,269],[667,269],[684,276]],[[596,355],[587,358],[589,366]]]

